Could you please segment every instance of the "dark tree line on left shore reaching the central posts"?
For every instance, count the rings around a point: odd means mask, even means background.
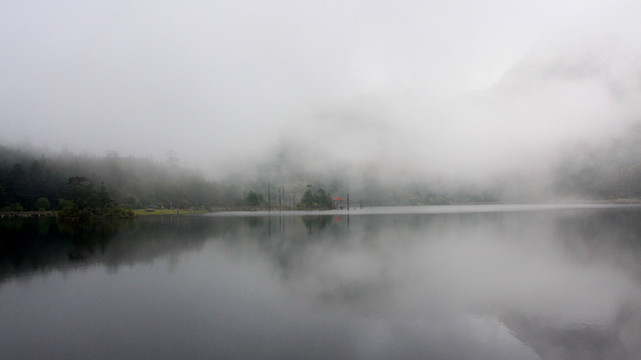
[[[122,157],[116,152],[104,157],[69,152],[45,155],[0,145],[0,211],[66,208],[59,214],[95,215],[113,210],[116,204],[127,209],[267,208],[269,183],[252,180],[211,181],[176,161]],[[289,209],[333,208],[325,190],[303,192],[304,187],[289,184],[287,199],[285,188],[279,193],[281,188],[274,187],[272,208],[279,201]]]

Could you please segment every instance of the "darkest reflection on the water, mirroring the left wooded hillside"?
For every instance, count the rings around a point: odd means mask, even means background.
[[[0,280],[36,271],[64,270],[89,263],[118,267],[151,261],[199,246],[211,229],[196,219],[56,222],[53,218],[0,221]],[[233,226],[233,222],[230,226]],[[215,231],[213,231],[215,233]]]

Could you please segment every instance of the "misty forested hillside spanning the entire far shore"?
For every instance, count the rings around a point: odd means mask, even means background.
[[[253,175],[212,181],[171,159],[157,162],[116,152],[96,157],[0,146],[0,210],[60,209],[72,197],[74,178],[86,180],[96,194],[107,192],[116,203],[133,209],[264,208],[270,201],[272,206],[282,201],[293,207],[303,200],[308,185],[314,191],[327,189],[328,198],[350,193],[352,204],[364,206],[641,198],[641,127],[607,143],[559,153],[557,165],[546,176],[498,174],[497,180],[484,185],[434,179],[381,181],[375,172],[358,167],[351,172],[322,171],[309,159],[292,158],[296,151],[288,154],[274,163],[257,163]]]

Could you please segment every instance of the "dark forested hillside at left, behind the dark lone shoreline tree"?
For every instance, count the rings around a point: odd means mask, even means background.
[[[38,154],[0,146],[0,209],[55,209],[70,196],[69,180],[82,177],[102,186],[131,208],[236,205],[242,194],[233,185],[207,181],[194,170],[149,159],[70,153]]]

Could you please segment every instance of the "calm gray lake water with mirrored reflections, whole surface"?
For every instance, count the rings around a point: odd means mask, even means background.
[[[638,359],[641,208],[0,222],[2,359]]]

